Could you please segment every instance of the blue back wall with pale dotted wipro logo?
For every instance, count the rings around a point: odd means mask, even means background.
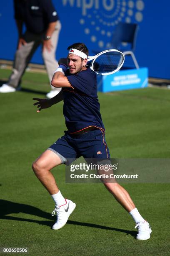
[[[57,59],[66,56],[67,46],[77,41],[87,44],[91,54],[93,49],[102,51],[118,22],[138,23],[135,56],[140,67],[148,67],[150,77],[170,79],[170,1],[53,0],[53,3],[62,23]],[[18,38],[13,0],[0,1],[0,35],[0,59],[13,60]],[[42,63],[40,49],[32,62]]]

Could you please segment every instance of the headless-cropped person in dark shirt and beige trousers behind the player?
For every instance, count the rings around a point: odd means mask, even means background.
[[[15,92],[20,87],[21,78],[32,55],[42,45],[42,58],[45,63],[49,82],[52,80],[58,62],[55,59],[60,20],[51,0],[14,0],[15,20],[18,28],[18,47],[15,53],[13,72],[0,92]],[[23,34],[23,25],[26,31]],[[61,88],[51,86],[47,98],[52,98]]]

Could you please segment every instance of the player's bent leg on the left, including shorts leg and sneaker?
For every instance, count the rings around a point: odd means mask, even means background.
[[[55,210],[52,215],[57,213],[57,220],[52,226],[52,229],[60,229],[66,223],[70,214],[75,209],[75,203],[65,199],[59,191],[55,178],[50,172],[52,168],[67,161],[67,158],[75,158],[76,152],[69,145],[66,135],[58,139],[48,148],[35,162],[32,164],[32,169],[35,175],[50,193],[55,202]]]

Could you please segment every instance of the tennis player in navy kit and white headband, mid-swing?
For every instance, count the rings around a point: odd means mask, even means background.
[[[62,87],[61,92],[52,99],[33,99],[37,100],[34,103],[37,105],[37,112],[64,101],[63,114],[67,131],[32,164],[35,175],[55,202],[55,210],[52,213],[57,213],[56,223],[52,226],[55,230],[67,223],[76,205],[62,196],[50,170],[60,164],[69,164],[69,159],[80,156],[85,159],[110,159],[97,98],[96,74],[87,66],[88,49],[85,44],[75,43],[67,50],[67,59],[60,59],[60,66],[51,81],[52,86]],[[135,228],[138,228],[136,238],[149,239],[150,225],[140,215],[128,192],[118,183],[104,185],[135,220]]]

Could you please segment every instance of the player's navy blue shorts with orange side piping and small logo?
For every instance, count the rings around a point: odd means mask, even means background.
[[[48,148],[60,156],[62,163],[70,164],[80,156],[85,159],[110,159],[102,130],[97,129],[81,135],[70,134],[67,131],[64,133],[64,136]]]

